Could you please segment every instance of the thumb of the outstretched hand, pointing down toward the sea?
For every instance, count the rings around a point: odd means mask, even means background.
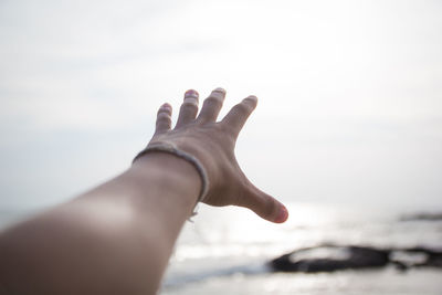
[[[249,183],[249,188],[243,198],[241,198],[239,206],[249,208],[261,218],[275,223],[283,223],[288,218],[288,211],[284,204],[252,183]]]

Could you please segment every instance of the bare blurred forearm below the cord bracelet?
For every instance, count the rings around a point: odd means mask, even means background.
[[[200,186],[187,161],[146,155],[117,178],[4,232],[4,287],[11,294],[155,293]]]

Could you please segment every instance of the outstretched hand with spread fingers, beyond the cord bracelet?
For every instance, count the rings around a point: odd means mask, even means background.
[[[284,222],[288,212],[273,197],[253,186],[242,172],[234,156],[240,130],[256,107],[257,98],[249,96],[217,122],[225,97],[223,88],[214,89],[198,113],[199,95],[185,94],[177,125],[171,129],[172,107],[164,104],[157,115],[156,131],[149,145],[168,144],[196,157],[209,178],[203,202],[211,206],[241,206],[272,222]]]

